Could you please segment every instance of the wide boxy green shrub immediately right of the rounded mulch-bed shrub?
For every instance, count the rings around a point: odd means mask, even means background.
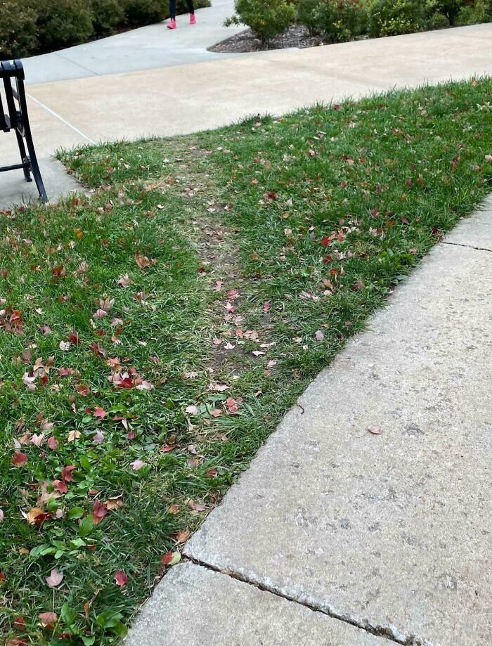
[[[428,0],[374,0],[369,8],[370,35],[420,32],[432,24],[434,11],[434,3]]]

